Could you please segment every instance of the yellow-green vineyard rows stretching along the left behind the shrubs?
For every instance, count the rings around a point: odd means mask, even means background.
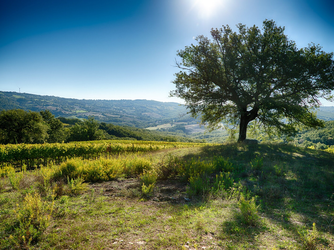
[[[126,152],[153,152],[172,147],[194,147],[202,143],[156,142],[156,141],[125,141],[102,140],[71,143],[44,144],[7,144],[0,145],[0,164],[15,164],[27,167],[36,164],[46,165],[50,162],[59,164],[72,157],[94,159],[96,157]]]

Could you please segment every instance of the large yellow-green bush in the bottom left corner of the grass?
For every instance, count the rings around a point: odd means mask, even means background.
[[[28,248],[38,241],[49,225],[53,202],[43,202],[38,194],[27,194],[24,201],[17,204],[15,230],[9,236],[10,245],[15,248]]]

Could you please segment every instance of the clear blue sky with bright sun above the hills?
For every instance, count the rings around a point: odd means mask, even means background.
[[[266,18],[298,47],[334,51],[333,1],[1,1],[0,90],[182,102],[169,98],[176,51],[212,27]]]

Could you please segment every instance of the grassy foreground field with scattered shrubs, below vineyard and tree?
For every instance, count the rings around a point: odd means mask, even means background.
[[[4,165],[0,246],[333,249],[333,166],[333,153],[274,144]]]

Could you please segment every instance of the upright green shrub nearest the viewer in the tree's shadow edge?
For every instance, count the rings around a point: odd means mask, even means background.
[[[240,209],[241,221],[248,226],[257,226],[260,221],[258,215],[258,207],[255,204],[254,197],[251,200],[245,200],[241,197],[239,200],[238,207]]]

